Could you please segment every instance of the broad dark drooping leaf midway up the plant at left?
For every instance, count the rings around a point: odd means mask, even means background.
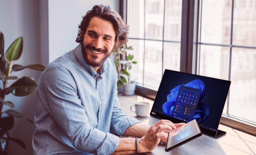
[[[37,82],[34,78],[23,77],[14,82],[9,88],[5,90],[15,96],[26,96],[31,94],[37,88]]]

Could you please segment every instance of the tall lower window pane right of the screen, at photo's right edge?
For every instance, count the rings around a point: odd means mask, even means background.
[[[229,114],[256,124],[256,50],[233,48]]]

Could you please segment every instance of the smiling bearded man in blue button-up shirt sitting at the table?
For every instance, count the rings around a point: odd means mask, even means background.
[[[80,44],[38,80],[34,154],[131,154],[165,143],[167,131],[182,123],[160,120],[149,128],[119,105],[116,68],[108,57],[127,42],[129,27],[109,6],[95,5],[79,29]]]

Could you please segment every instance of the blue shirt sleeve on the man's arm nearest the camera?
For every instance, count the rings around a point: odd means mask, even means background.
[[[92,154],[111,154],[116,150],[118,136],[90,126],[76,83],[68,71],[58,67],[48,69],[42,75],[37,91],[48,117],[52,117],[44,125],[54,138]]]

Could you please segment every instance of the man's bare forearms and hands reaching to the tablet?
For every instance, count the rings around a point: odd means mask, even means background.
[[[126,129],[124,136],[141,137],[137,139],[138,153],[150,152],[161,142],[166,143],[168,132],[184,123],[173,124],[169,120],[159,120],[149,127],[137,123]],[[148,130],[147,130],[148,129]],[[137,153],[135,138],[120,138],[113,154]]]

